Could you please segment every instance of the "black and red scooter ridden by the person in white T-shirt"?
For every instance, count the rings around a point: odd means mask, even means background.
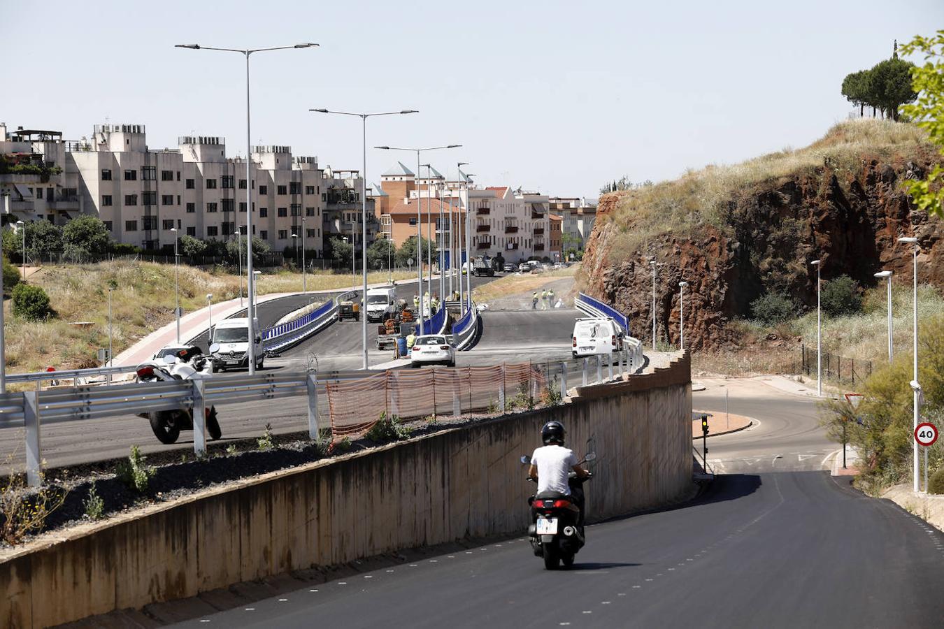
[[[579,465],[596,458],[596,454],[589,453],[583,457]],[[531,465],[531,456],[522,456],[521,464]],[[528,499],[533,521],[528,527],[528,539],[534,555],[544,558],[544,567],[547,570],[557,570],[560,564],[564,564],[565,568],[573,566],[574,556],[586,543],[581,511],[574,504],[572,494],[575,491],[582,491],[583,483],[592,477],[593,473],[586,478],[578,478],[576,472],[570,472],[567,474],[570,496],[556,491],[545,491]],[[528,480],[536,482],[533,478]]]

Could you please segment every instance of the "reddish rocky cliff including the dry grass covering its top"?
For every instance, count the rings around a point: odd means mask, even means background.
[[[726,323],[750,317],[750,303],[767,291],[791,296],[798,312],[815,307],[810,262],[817,258],[823,280],[847,273],[872,286],[872,274],[887,269],[910,282],[910,249],[897,242],[901,236],[919,239],[919,282],[944,287],[944,225],[913,210],[902,191],[902,179],[920,177],[939,161],[936,150],[924,141],[889,149],[868,137],[829,138],[772,162],[766,156],[763,169],[750,169],[774,176],[751,180],[706,169],[649,190],[605,195],[583,258],[583,290],[626,312],[632,335],[648,340],[654,258],[659,339],[678,343],[684,280],[685,344],[702,348],[733,343]],[[717,177],[735,184],[718,192],[711,185]],[[706,202],[706,190],[715,198]]]

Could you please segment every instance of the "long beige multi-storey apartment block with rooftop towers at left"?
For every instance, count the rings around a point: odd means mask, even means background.
[[[245,213],[253,233],[274,251],[301,246],[321,255],[331,236],[362,240],[362,181],[357,171],[318,168],[317,157],[293,156],[289,146],[252,149],[250,181],[244,157],[227,157],[215,136],[184,136],[177,148],[153,150],[143,124],[96,124],[91,139],[62,141],[51,131],[8,133],[0,154],[43,164],[57,174],[0,174],[3,222],[62,224],[92,214],[123,243],[170,248],[176,236],[228,240]],[[250,207],[246,207],[246,188]],[[368,240],[379,223],[368,206]]]

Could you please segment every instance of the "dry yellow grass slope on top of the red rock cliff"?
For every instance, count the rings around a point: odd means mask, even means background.
[[[607,243],[608,257],[612,261],[627,259],[656,234],[693,236],[705,223],[725,229],[729,202],[750,194],[757,184],[813,174],[826,164],[836,174],[851,173],[860,166],[863,155],[906,157],[927,145],[927,134],[913,124],[852,120],[834,125],[805,148],[784,148],[734,165],[710,165],[674,181],[623,192],[615,212],[603,219],[618,228],[618,236]]]

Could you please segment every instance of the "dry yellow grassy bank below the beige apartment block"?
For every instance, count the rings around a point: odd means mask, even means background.
[[[412,273],[394,273],[404,279]],[[386,281],[386,272],[369,273],[371,283]],[[358,275],[360,282],[360,275]],[[350,286],[350,273],[309,273],[308,290]],[[30,273],[28,284],[45,290],[55,314],[29,322],[12,316],[6,307],[7,368],[9,372],[36,372],[96,367],[96,350],[108,347],[108,288],[112,293],[112,346],[115,356],[138,339],[174,320],[174,267],[151,262],[114,261],[88,265],[45,267]],[[229,273],[208,273],[181,265],[180,306],[184,312],[239,296],[239,278]],[[262,274],[259,294],[300,292],[301,273]],[[243,285],[245,291],[245,284]],[[90,323],[76,325],[74,323]]]

